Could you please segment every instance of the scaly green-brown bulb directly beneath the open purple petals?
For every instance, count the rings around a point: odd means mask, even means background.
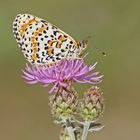
[[[57,119],[70,119],[76,113],[78,94],[75,90],[65,91],[59,89],[56,94],[49,98],[53,116]]]

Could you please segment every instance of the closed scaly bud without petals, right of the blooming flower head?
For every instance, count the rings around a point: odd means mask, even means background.
[[[79,106],[79,114],[85,121],[95,121],[104,110],[103,93],[97,86],[92,86],[87,92]]]

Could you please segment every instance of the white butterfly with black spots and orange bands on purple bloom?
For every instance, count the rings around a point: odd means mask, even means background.
[[[13,33],[25,58],[35,65],[80,58],[87,47],[86,40],[77,42],[55,25],[30,14],[16,16]]]

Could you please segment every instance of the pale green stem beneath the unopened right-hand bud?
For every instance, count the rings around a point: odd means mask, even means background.
[[[89,121],[85,121],[81,140],[86,140],[87,135],[88,135],[89,127],[90,127],[90,122]]]

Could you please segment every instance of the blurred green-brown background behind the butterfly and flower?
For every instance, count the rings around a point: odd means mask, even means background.
[[[44,18],[77,40],[91,36],[87,63],[98,61],[104,74],[106,128],[89,140],[140,139],[139,0],[0,0],[0,140],[58,140],[59,134],[48,88],[21,77],[26,61],[12,33],[18,13]],[[76,85],[81,95],[88,87]]]

